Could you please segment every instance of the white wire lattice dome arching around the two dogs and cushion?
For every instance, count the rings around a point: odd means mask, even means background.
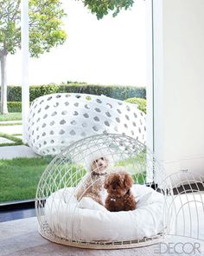
[[[49,228],[44,207],[46,199],[54,192],[65,187],[73,187],[74,194],[76,189],[80,186],[80,181],[85,176],[86,170],[89,168],[90,159],[94,155],[108,158],[112,166],[125,167],[131,174],[134,184],[150,187],[154,185],[157,187],[156,189],[163,191],[160,184],[162,184],[165,179],[164,169],[159,162],[156,161],[154,154],[152,154],[143,143],[124,135],[103,134],[87,137],[73,143],[61,154],[57,155],[41,176],[35,200],[36,214],[41,235],[48,240],[69,246],[87,246],[93,248],[101,248],[103,246],[104,248],[145,246],[158,242],[157,239],[161,239],[163,234],[134,241],[117,240],[104,242],[76,240],[74,235],[72,236],[72,228],[70,228],[70,226],[68,227],[68,225],[67,237],[69,237],[69,239],[66,240],[56,236],[51,228]],[[70,201],[71,199],[67,199],[67,210]],[[55,209],[54,202],[52,207]],[[73,220],[70,220],[72,226],[78,225],[75,221],[75,215],[77,214],[77,210],[73,212]],[[70,233],[72,236],[71,240]]]

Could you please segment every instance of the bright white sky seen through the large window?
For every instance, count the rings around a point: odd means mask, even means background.
[[[136,0],[131,10],[97,20],[81,1],[62,0],[67,42],[40,58],[29,59],[29,84],[67,81],[146,85],[146,9]],[[20,50],[8,56],[8,84],[21,84]]]

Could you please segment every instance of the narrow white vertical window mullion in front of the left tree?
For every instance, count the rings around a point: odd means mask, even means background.
[[[26,122],[29,113],[29,0],[21,3],[22,33],[22,141],[26,143]]]

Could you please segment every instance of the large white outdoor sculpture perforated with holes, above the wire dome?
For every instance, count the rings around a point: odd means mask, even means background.
[[[27,141],[37,154],[59,154],[90,135],[129,135],[145,144],[146,117],[137,105],[104,95],[54,94],[29,109]]]

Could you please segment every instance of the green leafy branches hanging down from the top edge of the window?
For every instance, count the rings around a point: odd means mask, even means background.
[[[103,18],[110,11],[112,11],[112,16],[117,16],[120,10],[129,9],[134,0],[82,0],[84,5],[96,14],[98,19]]]

